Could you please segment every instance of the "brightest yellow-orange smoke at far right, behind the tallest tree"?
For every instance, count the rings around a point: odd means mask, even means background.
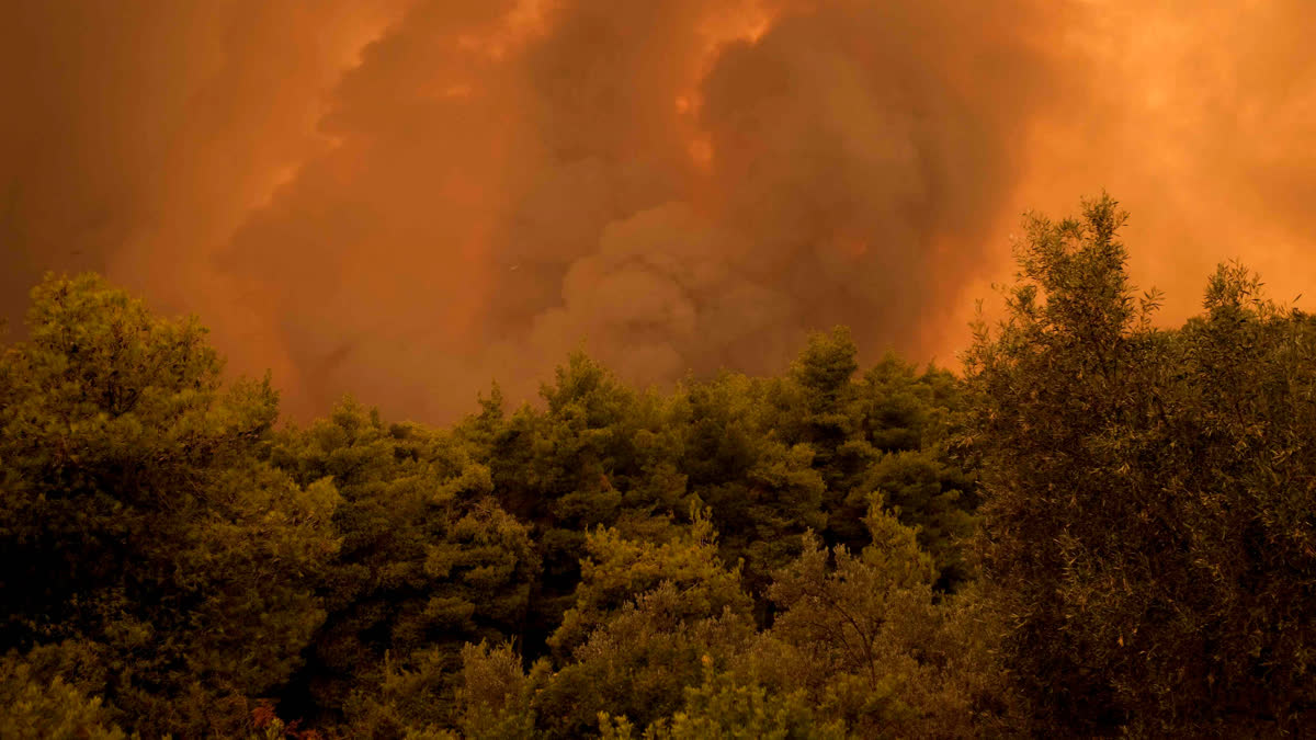
[[[1302,0],[1092,3],[1067,33],[1086,93],[1032,137],[1020,208],[1071,212],[1105,187],[1166,323],[1200,309],[1205,277],[1238,258],[1292,300],[1316,286],[1316,14]]]

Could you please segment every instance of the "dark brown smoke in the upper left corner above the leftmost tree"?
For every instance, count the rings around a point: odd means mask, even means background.
[[[0,4],[0,311],[46,270],[108,273],[205,316],[246,371],[282,348],[212,255],[326,145],[321,97],[388,3]]]

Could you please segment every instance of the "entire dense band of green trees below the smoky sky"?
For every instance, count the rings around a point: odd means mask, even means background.
[[[1104,198],[963,377],[845,329],[450,429],[278,424],[95,277],[0,348],[0,736],[1258,736],[1316,723],[1316,321],[1153,325]]]

